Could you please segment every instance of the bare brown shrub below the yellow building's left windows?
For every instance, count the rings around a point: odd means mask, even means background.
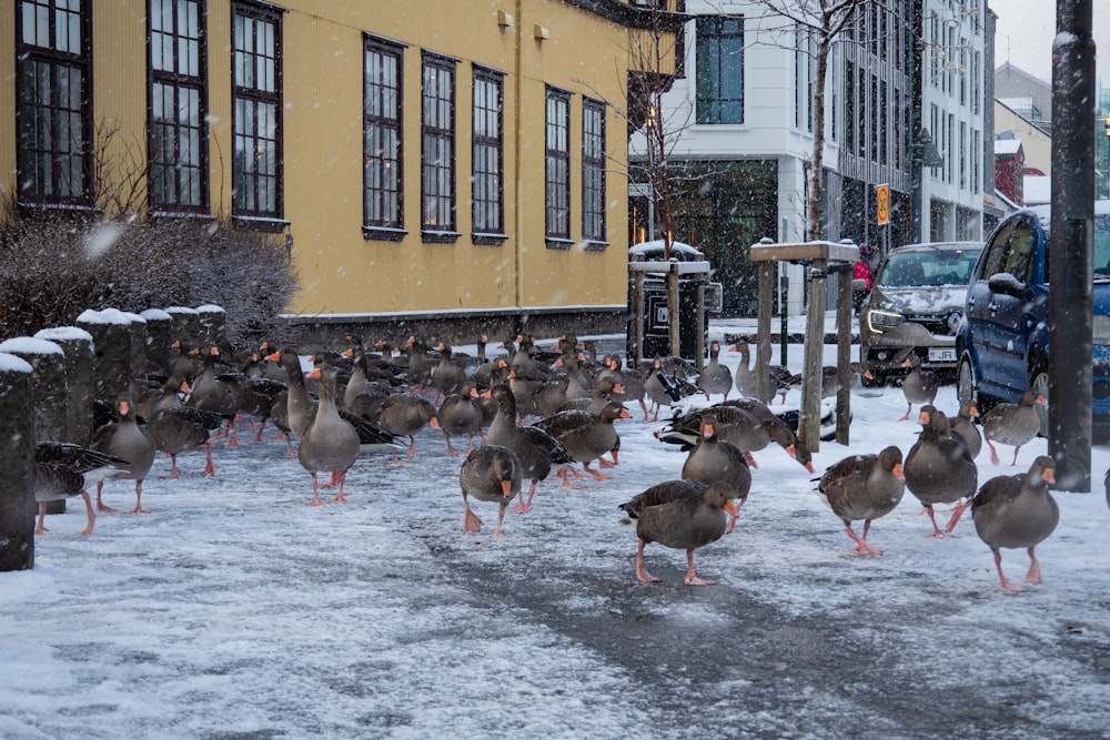
[[[64,213],[0,224],[0,337],[81,312],[216,304],[228,339],[272,338],[296,288],[282,240],[206,219],[98,221]]]

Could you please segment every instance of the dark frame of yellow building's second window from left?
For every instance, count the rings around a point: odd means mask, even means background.
[[[170,28],[160,33],[154,28],[158,16],[155,4],[163,3],[170,8]],[[181,28],[182,21],[189,19],[182,19],[179,11],[190,6],[196,13],[196,28],[188,31],[195,31],[195,36],[188,36]],[[206,3],[203,0],[149,0],[147,23],[148,200],[151,212],[208,213],[210,160]],[[169,70],[160,69],[155,61],[157,39],[160,36],[168,39],[172,64]],[[190,43],[195,44],[195,71],[181,57],[182,45],[185,44],[188,49]],[[170,92],[170,110],[174,112],[172,120],[159,118],[157,99],[160,88]],[[182,98],[192,98],[195,102],[195,107],[189,105],[189,119],[185,121],[181,120]],[[160,145],[162,142],[170,144],[168,155],[160,155],[160,152],[165,151]],[[189,161],[189,152],[193,146],[195,161],[191,166],[182,166],[182,162]]]

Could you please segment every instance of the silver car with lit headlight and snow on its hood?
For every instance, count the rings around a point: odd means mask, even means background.
[[[869,384],[908,372],[910,353],[921,366],[956,375],[956,327],[981,242],[907,244],[879,265],[875,287],[859,314],[859,356]]]

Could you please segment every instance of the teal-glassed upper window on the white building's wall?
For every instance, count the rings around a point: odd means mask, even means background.
[[[744,123],[744,19],[696,23],[698,123]]]

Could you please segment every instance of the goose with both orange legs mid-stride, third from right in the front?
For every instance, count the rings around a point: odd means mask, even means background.
[[[860,555],[882,555],[867,543],[871,521],[895,510],[906,490],[901,450],[891,445],[878,455],[851,455],[825,472],[818,495],[844,521],[845,531]],[[857,535],[851,523],[864,520]]]

